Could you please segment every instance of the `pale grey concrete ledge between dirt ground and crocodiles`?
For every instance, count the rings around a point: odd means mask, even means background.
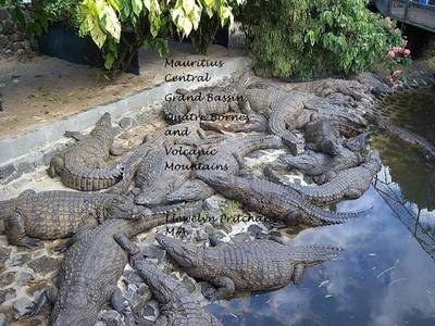
[[[191,71],[192,74],[209,73],[211,77],[209,83],[163,83],[119,101],[48,122],[17,137],[0,139],[0,184],[8,184],[23,173],[47,165],[57,148],[67,141],[63,136],[65,130],[87,131],[104,112],[112,115],[114,123],[125,117],[129,118],[130,123],[126,123],[127,126],[124,127],[128,129],[145,122],[150,114],[159,112],[163,106],[165,95],[174,92],[177,88],[195,89],[225,84],[232,78],[237,78],[250,63],[246,57],[229,58],[222,67]]]

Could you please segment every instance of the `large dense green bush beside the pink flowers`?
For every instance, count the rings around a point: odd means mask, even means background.
[[[401,35],[366,0],[248,0],[240,20],[256,71],[308,79],[358,73],[380,61]]]

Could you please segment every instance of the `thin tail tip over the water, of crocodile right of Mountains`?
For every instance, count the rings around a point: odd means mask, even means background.
[[[334,213],[311,203],[306,203],[301,209],[307,213],[306,218],[310,225],[341,224],[350,218],[366,215],[371,211],[371,209],[369,209],[359,212]]]

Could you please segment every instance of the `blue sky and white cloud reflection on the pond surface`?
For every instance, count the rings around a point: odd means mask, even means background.
[[[224,325],[434,325],[435,262],[371,187],[340,210],[369,216],[309,228],[298,243],[330,243],[339,259],[308,269],[300,285],[209,306]]]

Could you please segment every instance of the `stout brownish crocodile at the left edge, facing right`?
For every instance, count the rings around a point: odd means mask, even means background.
[[[95,226],[110,217],[130,218],[137,213],[129,198],[114,193],[25,190],[0,202],[9,243],[27,248],[39,247],[38,239],[69,237],[80,226]]]

